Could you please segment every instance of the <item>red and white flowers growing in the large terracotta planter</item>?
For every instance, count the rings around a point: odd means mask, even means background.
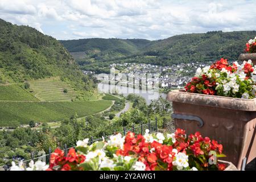
[[[195,77],[185,86],[186,92],[208,95],[255,98],[256,67],[251,60],[240,65],[220,59],[210,67],[198,68]]]

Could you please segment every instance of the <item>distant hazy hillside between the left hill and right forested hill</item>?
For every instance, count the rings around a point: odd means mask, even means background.
[[[79,39],[60,40],[79,64],[93,63],[94,60],[108,60],[139,53],[150,46],[145,39]]]

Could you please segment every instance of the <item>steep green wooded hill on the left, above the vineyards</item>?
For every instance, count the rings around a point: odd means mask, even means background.
[[[59,41],[35,28],[0,19],[0,84],[56,76],[77,89],[92,89]]]

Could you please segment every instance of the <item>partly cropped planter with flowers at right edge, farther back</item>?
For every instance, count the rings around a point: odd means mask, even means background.
[[[238,60],[252,60],[253,64],[256,64],[256,36],[246,43],[245,52],[238,57]]]

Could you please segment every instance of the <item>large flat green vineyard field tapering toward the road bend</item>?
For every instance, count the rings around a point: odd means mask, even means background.
[[[70,118],[77,113],[78,117],[98,113],[107,109],[111,101],[77,101],[77,102],[0,102],[0,126],[13,126],[13,123],[27,124],[52,122]]]

